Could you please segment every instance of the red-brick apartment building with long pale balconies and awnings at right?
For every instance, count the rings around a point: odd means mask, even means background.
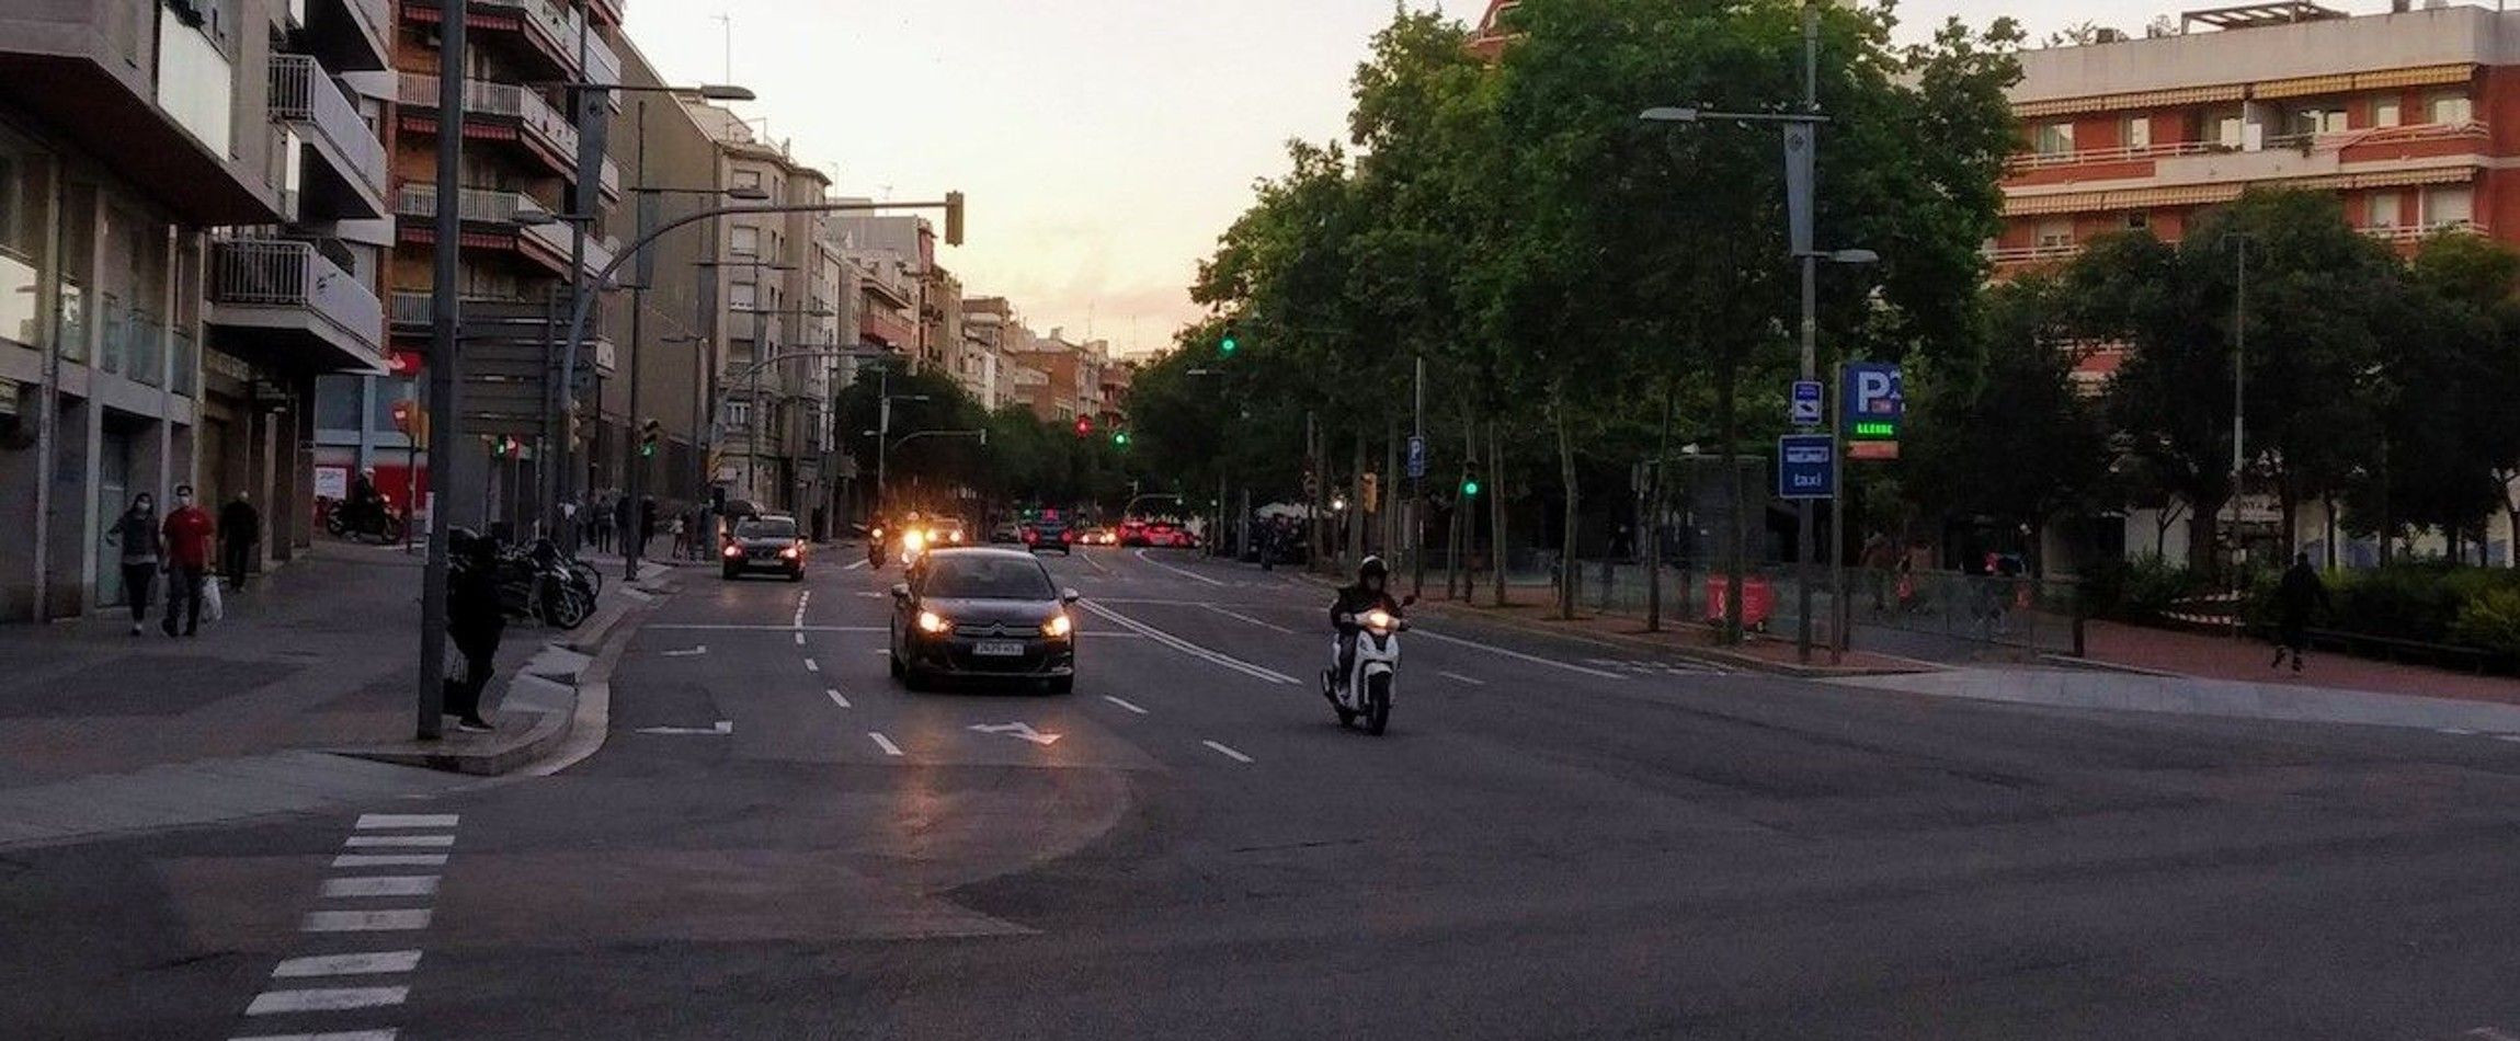
[[[1998,277],[2107,232],[2175,242],[2250,187],[2336,192],[2402,247],[2444,227],[2520,242],[2520,10],[2394,8],[2197,10],[2180,35],[2021,53]]]

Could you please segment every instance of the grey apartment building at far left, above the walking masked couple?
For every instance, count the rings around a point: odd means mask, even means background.
[[[0,618],[123,600],[139,492],[310,539],[323,373],[383,373],[381,0],[0,0]]]

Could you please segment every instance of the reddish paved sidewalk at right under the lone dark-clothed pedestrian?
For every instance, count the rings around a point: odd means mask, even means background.
[[[2520,681],[2510,676],[2475,676],[2328,653],[2308,655],[2308,668],[2293,673],[2291,663],[2281,670],[2268,668],[2276,650],[2265,640],[2233,640],[2119,623],[2087,623],[2084,638],[2084,658],[2102,665],[2288,688],[2520,703]]]

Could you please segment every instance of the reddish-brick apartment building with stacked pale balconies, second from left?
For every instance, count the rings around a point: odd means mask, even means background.
[[[471,0],[464,5],[469,38],[464,91],[464,189],[451,204],[464,219],[461,285],[466,368],[461,416],[438,416],[421,396],[431,330],[428,300],[436,272],[436,144],[446,134],[438,113],[438,40],[444,0],[398,0],[393,18],[393,121],[386,134],[393,169],[393,252],[386,262],[386,315],[393,373],[383,378],[328,378],[318,386],[315,474],[318,486],[340,489],[350,474],[373,469],[378,486],[428,499],[438,469],[421,446],[393,428],[393,403],[413,401],[436,423],[456,423],[459,454],[449,481],[466,489],[456,524],[529,527],[542,512],[542,469],[559,456],[547,423],[539,373],[549,368],[544,330],[567,308],[567,287],[580,270],[612,260],[605,204],[620,202],[620,166],[585,164],[580,126],[620,113],[620,96],[587,91],[572,98],[559,83],[620,83],[620,58],[610,43],[620,33],[615,0]],[[592,116],[572,116],[585,101]],[[575,197],[585,184],[590,197]],[[590,214],[575,219],[572,214]],[[570,219],[552,219],[552,217]],[[564,315],[562,315],[564,320]],[[617,355],[602,323],[580,360],[587,393],[595,378],[617,373]]]

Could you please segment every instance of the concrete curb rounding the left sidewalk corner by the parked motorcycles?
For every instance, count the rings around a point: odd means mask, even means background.
[[[519,668],[517,676],[509,678],[509,691],[507,701],[501,703],[501,716],[512,718],[532,716],[534,721],[527,723],[522,733],[499,731],[486,739],[471,733],[449,733],[438,741],[403,741],[403,744],[368,746],[368,749],[333,749],[333,754],[350,759],[373,759],[396,766],[423,766],[446,774],[469,774],[469,776],[512,774],[529,764],[544,764],[547,759],[557,759],[564,751],[575,751],[570,739],[580,718],[587,716],[587,691],[590,686],[600,686],[602,706],[597,706],[595,711],[597,718],[595,744],[570,761],[585,759],[587,754],[602,746],[600,723],[610,713],[612,663],[620,660],[622,648],[630,643],[630,635],[638,633],[638,625],[622,628],[622,620],[627,620],[630,615],[645,615],[648,610],[655,610],[655,602],[673,595],[678,590],[678,582],[673,572],[658,572],[658,575],[640,575],[640,580],[627,582],[625,590],[627,595],[597,610],[595,618],[587,620],[587,625],[580,625],[577,630],[567,633],[564,640],[544,643],[544,653],[549,653],[552,648],[562,648],[590,658],[582,670],[567,676],[567,683],[562,683],[562,676],[534,676],[532,663],[527,663],[527,668]],[[534,683],[549,688],[549,693],[537,691]],[[570,761],[559,766],[567,766]],[[554,766],[554,771],[559,766]]]

